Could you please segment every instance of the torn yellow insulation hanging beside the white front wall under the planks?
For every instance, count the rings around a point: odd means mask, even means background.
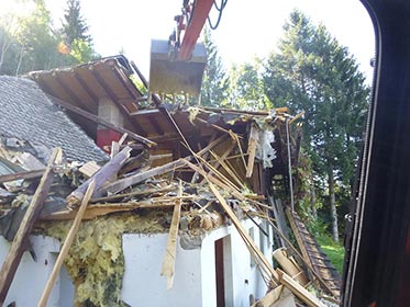
[[[120,297],[124,274],[122,234],[167,231],[163,226],[167,215],[166,212],[151,212],[144,216],[123,213],[84,221],[65,259],[76,285],[75,302],[87,303],[87,306],[125,306]],[[40,227],[45,235],[63,242],[70,226],[68,220],[47,221]]]

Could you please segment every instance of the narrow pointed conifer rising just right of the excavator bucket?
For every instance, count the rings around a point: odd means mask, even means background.
[[[229,80],[223,69],[209,29],[204,29],[203,44],[208,54],[208,62],[203,73],[201,88],[201,105],[223,106],[228,104]]]

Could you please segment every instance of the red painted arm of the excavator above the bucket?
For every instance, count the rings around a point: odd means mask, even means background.
[[[212,9],[213,0],[197,0],[196,7],[193,8],[193,15],[190,24],[185,31],[182,43],[179,48],[180,60],[188,60],[197,44],[198,37],[201,34],[203,24],[206,23],[209,12]]]

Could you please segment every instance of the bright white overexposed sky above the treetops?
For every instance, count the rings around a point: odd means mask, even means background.
[[[0,8],[2,1],[13,0],[0,0]],[[46,0],[46,3],[55,25],[59,25],[66,0]],[[181,3],[182,0],[82,0],[81,9],[96,50],[102,56],[124,50],[148,76],[151,39],[168,38]],[[355,56],[370,83],[375,36],[370,19],[358,0],[229,0],[219,27],[212,32],[225,67],[252,61],[255,56],[266,57],[275,49],[282,25],[295,8],[313,23],[323,23]]]

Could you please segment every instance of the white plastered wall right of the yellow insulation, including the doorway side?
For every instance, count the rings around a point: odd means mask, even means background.
[[[266,238],[251,220],[243,225],[247,230],[254,229],[256,245],[263,243],[262,250],[272,262],[272,236]],[[125,303],[133,307],[217,306],[214,242],[221,238],[225,238],[226,307],[250,306],[251,294],[255,298],[265,295],[266,285],[256,266],[251,266],[250,252],[233,226],[208,234],[201,248],[184,249],[178,239],[174,286],[167,289],[166,277],[160,276],[167,237],[167,234],[123,236],[125,273],[121,296]]]

